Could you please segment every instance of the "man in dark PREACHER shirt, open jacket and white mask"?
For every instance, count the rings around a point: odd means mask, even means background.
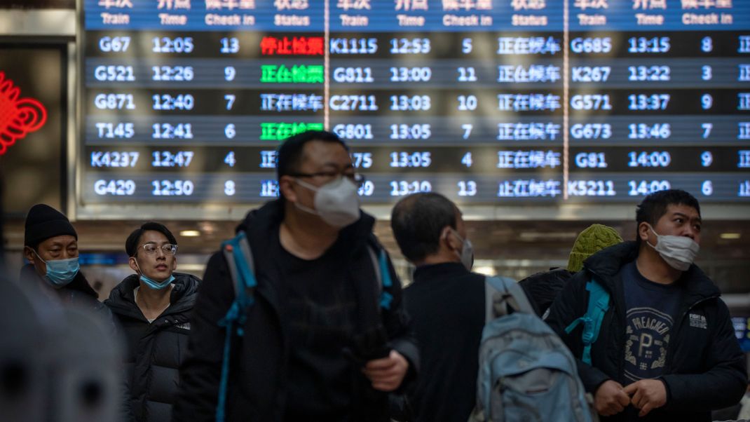
[[[682,190],[664,190],[637,208],[637,240],[583,262],[550,308],[547,323],[577,358],[593,280],[609,293],[590,364],[578,361],[602,421],[711,421],[710,412],[742,398],[745,359],[727,306],[693,264],[700,244],[700,205]]]

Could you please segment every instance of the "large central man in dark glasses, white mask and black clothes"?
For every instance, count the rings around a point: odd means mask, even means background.
[[[416,373],[417,351],[392,265],[359,210],[349,150],[310,131],[278,150],[281,197],[251,211],[257,288],[233,337],[224,421],[389,421],[388,393]],[[380,301],[384,256],[393,286]],[[214,421],[226,328],[235,298],[222,253],[208,261],[193,314],[172,421]]]

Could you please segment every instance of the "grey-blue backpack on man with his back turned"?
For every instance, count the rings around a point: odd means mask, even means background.
[[[487,278],[476,407],[469,421],[598,421],[565,343],[534,313],[523,289]]]

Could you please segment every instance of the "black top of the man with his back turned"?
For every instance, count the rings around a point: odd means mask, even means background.
[[[419,422],[466,422],[476,404],[484,276],[460,262],[424,265],[404,290],[422,373],[410,401]]]

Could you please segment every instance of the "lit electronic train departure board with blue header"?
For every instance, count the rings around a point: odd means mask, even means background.
[[[311,129],[365,204],[750,202],[750,1],[81,1],[83,204],[263,202]]]

